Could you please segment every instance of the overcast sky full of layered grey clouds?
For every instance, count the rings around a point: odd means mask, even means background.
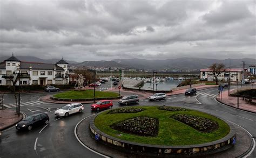
[[[255,59],[255,2],[0,0],[0,56]]]

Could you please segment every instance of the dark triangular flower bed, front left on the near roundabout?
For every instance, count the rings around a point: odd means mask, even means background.
[[[111,125],[114,130],[141,136],[156,137],[158,134],[158,119],[150,117],[134,117]]]

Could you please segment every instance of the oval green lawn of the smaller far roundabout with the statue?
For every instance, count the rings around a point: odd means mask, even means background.
[[[115,92],[103,92],[103,91],[95,91],[96,98],[111,98],[118,97],[119,94]],[[60,94],[53,95],[56,98],[62,99],[89,99],[93,98],[93,90],[83,90],[83,91],[66,91]]]

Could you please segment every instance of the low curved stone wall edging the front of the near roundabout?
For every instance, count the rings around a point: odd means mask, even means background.
[[[100,113],[99,113],[100,114]],[[98,114],[97,114],[98,115]],[[161,146],[161,145],[149,145],[144,143],[130,142],[121,140],[118,138],[107,135],[95,126],[94,120],[97,117],[93,116],[90,119],[89,128],[93,137],[99,138],[99,142],[104,143],[107,146],[122,150],[123,152],[130,154],[139,154],[144,156],[203,156],[213,153],[218,153],[234,145],[233,140],[235,137],[235,128],[232,124],[226,122],[230,126],[230,133],[226,137],[199,145],[185,145],[185,146]],[[189,140],[188,140],[189,141]]]

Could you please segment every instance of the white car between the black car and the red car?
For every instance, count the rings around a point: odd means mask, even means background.
[[[84,106],[81,103],[72,103],[63,106],[61,109],[55,111],[56,116],[69,116],[72,113],[83,112]]]

